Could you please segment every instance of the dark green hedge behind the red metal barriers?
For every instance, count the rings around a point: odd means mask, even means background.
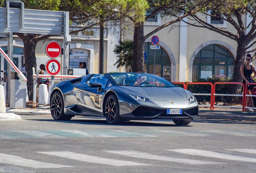
[[[213,78],[201,78],[198,80],[195,80],[194,82],[211,82],[213,85],[215,82],[231,82],[232,78],[224,78],[224,77],[215,77]],[[188,83],[188,82],[186,82]],[[230,88],[234,87],[235,84],[216,84],[215,87],[215,93],[217,94],[231,94],[230,93]],[[210,84],[189,84],[188,91],[191,93],[206,93],[210,94],[211,93],[211,85]],[[195,95],[196,100],[198,101],[198,104],[200,105],[205,105],[206,103],[210,104],[211,101],[211,96],[201,96],[201,95]],[[225,104],[229,104],[228,100],[229,97],[231,96],[215,96],[215,104],[221,102]]]

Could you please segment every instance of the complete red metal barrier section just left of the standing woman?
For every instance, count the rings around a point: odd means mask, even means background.
[[[216,84],[242,84],[243,85],[243,89],[244,89],[244,92],[243,92],[243,95],[233,95],[233,94],[216,94],[215,93],[215,86]],[[247,90],[246,90],[247,91]],[[243,97],[243,103],[242,103],[242,111],[244,111],[244,102],[245,102],[245,86],[244,86],[244,83],[242,82],[215,82],[214,85],[213,85],[213,109],[214,107],[235,107],[235,106],[215,106],[215,95],[219,95],[219,96],[242,96]]]

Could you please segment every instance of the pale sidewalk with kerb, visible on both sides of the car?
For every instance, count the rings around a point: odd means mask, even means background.
[[[36,109],[9,109],[6,108],[6,113],[0,113],[2,119],[21,119],[19,115],[47,115],[51,114],[50,106],[39,106]],[[199,107],[200,118],[206,119],[226,119],[238,121],[256,121],[256,113],[242,111],[242,108],[215,108],[210,110],[209,107]]]

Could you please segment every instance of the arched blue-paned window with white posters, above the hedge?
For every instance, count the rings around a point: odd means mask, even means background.
[[[210,44],[202,48],[193,62],[193,81],[199,78],[233,77],[235,58],[231,52],[219,44]]]

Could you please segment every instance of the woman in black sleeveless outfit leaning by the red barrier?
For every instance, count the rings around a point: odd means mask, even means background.
[[[256,76],[256,70],[254,69],[254,67],[252,65],[250,65],[251,62],[252,62],[252,56],[251,56],[251,54],[247,54],[246,62],[240,66],[240,71],[241,71],[241,74],[243,77],[243,83],[244,83],[245,87],[249,83],[249,80],[254,79]],[[252,76],[252,72],[254,72],[254,76]],[[248,95],[252,95],[253,88],[254,88],[254,85],[248,86],[248,88],[247,88]],[[250,107],[254,107],[252,97],[247,97],[246,105],[249,106],[249,104],[250,104]],[[253,110],[254,110],[254,112],[256,112],[256,109],[253,109]],[[247,111],[250,111],[250,110],[247,109]]]

